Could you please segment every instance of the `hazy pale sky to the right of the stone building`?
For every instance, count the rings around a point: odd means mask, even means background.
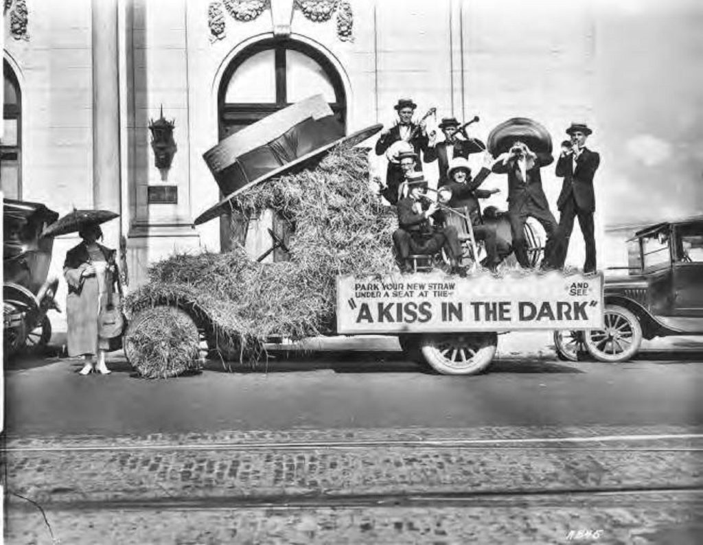
[[[703,214],[703,2],[601,1],[596,16],[605,224]]]

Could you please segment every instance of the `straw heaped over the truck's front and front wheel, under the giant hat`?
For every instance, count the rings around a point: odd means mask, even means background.
[[[211,346],[226,348],[221,352],[253,366],[273,335],[299,340],[335,333],[337,275],[394,269],[396,214],[370,191],[362,148],[337,146],[314,169],[254,186],[233,206],[245,215],[271,208],[288,222],[294,233],[290,261],[255,262],[241,247],[222,254],[173,255],[150,267],[148,283],[127,296],[129,316],[157,305],[179,307],[205,328]],[[157,322],[150,331],[170,334],[175,327],[171,316],[150,320]],[[132,364],[143,376],[174,376],[197,365],[185,358],[165,368],[165,351],[174,354],[178,346],[138,335]],[[182,349],[192,354],[192,342]]]

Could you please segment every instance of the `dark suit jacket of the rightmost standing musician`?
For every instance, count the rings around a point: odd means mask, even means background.
[[[600,165],[600,155],[588,148],[583,148],[576,159],[576,172],[572,155],[562,155],[557,161],[557,177],[563,178],[562,192],[557,199],[557,208],[562,210],[572,195],[576,208],[583,212],[595,212],[595,194],[593,193],[593,174]]]

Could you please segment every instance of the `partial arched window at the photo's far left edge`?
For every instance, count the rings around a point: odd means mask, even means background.
[[[7,198],[22,198],[22,96],[15,72],[3,60],[4,131],[0,139],[0,178]]]

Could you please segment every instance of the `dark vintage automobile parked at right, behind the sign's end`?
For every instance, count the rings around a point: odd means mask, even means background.
[[[643,338],[703,335],[703,216],[637,231],[628,256],[628,276],[605,278],[605,329],[556,331],[560,358],[626,361]]]

